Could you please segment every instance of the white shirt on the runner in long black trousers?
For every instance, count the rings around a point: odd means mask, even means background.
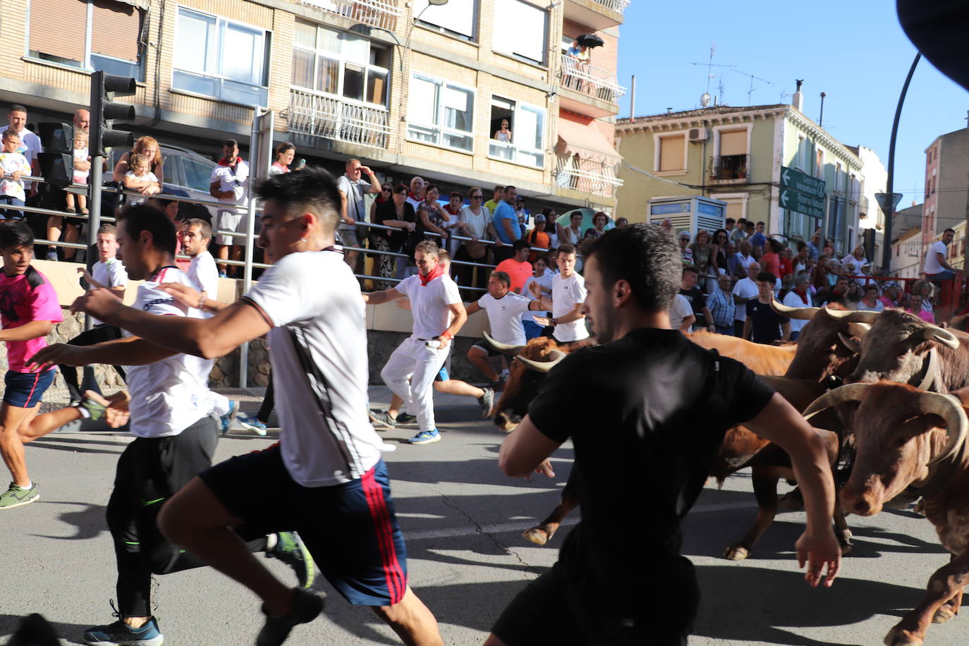
[[[132,307],[150,314],[202,318],[194,308],[185,309],[172,294],[158,289],[159,283],[181,283],[194,287],[177,267],[165,267],[154,281],[138,286],[138,297]],[[131,336],[123,331],[125,336]],[[208,389],[208,370],[198,357],[175,354],[143,366],[127,366],[128,391],[131,393],[131,432],[140,438],[163,438],[178,435],[212,412]]]

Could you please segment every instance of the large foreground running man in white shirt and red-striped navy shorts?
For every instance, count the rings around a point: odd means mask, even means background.
[[[213,308],[211,319],[160,322],[102,291],[76,303],[175,352],[222,356],[268,337],[279,444],[192,479],[162,510],[159,527],[263,601],[259,644],[282,644],[319,615],[323,599],[284,585],[252,558],[234,534],[238,526],[296,529],[344,598],[371,606],[408,643],[443,644],[434,616],[407,585],[383,443],[367,420],[365,312],[357,280],[333,247],[336,182],[323,169],[303,169],[268,178],[257,193],[260,244],[274,264],[245,296]],[[181,285],[165,289],[185,293]]]

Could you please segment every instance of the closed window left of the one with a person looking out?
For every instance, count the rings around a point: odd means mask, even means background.
[[[471,152],[475,91],[420,72],[407,91],[407,138]]]

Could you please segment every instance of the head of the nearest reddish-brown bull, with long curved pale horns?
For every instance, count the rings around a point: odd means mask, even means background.
[[[965,450],[969,419],[956,397],[911,385],[851,384],[816,399],[805,416],[857,406],[850,416],[856,456],[841,488],[845,511],[870,516],[909,485],[919,486],[940,462]]]

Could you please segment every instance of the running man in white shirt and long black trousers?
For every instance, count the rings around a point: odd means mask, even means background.
[[[144,281],[134,307],[124,308],[115,292],[101,288],[80,296],[74,310],[117,324],[120,319],[101,317],[97,308],[85,309],[85,303],[100,302],[104,312],[131,309],[169,330],[168,335],[178,334],[174,323],[201,320],[198,310],[179,305],[159,288],[165,282],[192,285],[189,277],[174,266],[175,230],[165,213],[149,204],[137,204],[121,212],[117,226],[128,276]],[[219,433],[216,419],[210,415],[208,364],[131,333],[86,347],[49,346],[30,361],[42,367],[54,363],[129,366],[130,399],[111,405],[130,411],[130,429],[136,437],[118,459],[106,512],[117,559],[119,619],[87,629],[81,640],[95,646],[158,646],[164,636],[151,615],[152,573],[168,574],[204,565],[168,542],[156,521],[166,499],[212,463]],[[268,556],[277,556],[297,569],[300,584],[312,583],[312,561],[297,538],[279,534],[266,542],[264,537],[248,546],[240,544],[253,551],[266,549]]]

